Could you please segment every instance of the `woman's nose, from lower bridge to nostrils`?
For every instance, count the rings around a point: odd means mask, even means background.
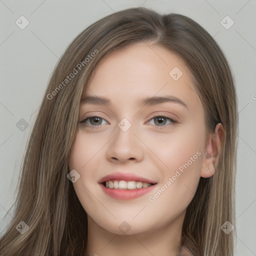
[[[108,143],[107,158],[115,162],[141,161],[144,155],[144,144],[139,139],[139,135],[134,133],[132,125],[126,131],[117,126],[115,132]]]

